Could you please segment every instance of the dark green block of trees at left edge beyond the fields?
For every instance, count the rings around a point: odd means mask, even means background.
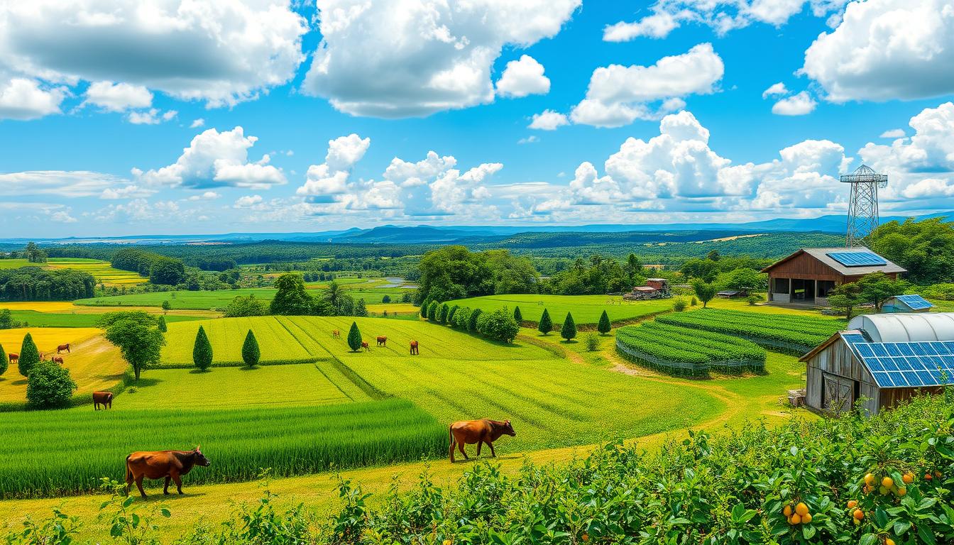
[[[73,301],[93,297],[93,275],[73,269],[37,266],[0,269],[0,299],[6,301]]]

